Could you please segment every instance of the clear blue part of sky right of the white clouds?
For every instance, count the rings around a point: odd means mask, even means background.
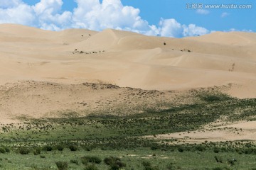
[[[141,10],[142,18],[156,24],[159,18],[175,18],[183,24],[195,23],[209,30],[254,30],[256,31],[256,1],[255,0],[124,0],[126,5],[134,6]],[[207,14],[200,14],[196,9],[186,8],[187,4],[252,4],[250,9],[206,9]],[[222,13],[228,16],[221,17]]]

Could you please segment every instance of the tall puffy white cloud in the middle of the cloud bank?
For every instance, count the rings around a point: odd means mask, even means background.
[[[139,16],[139,9],[123,6],[120,0],[77,0],[78,8],[73,13],[73,26],[92,30],[124,28],[149,29],[149,23]]]

